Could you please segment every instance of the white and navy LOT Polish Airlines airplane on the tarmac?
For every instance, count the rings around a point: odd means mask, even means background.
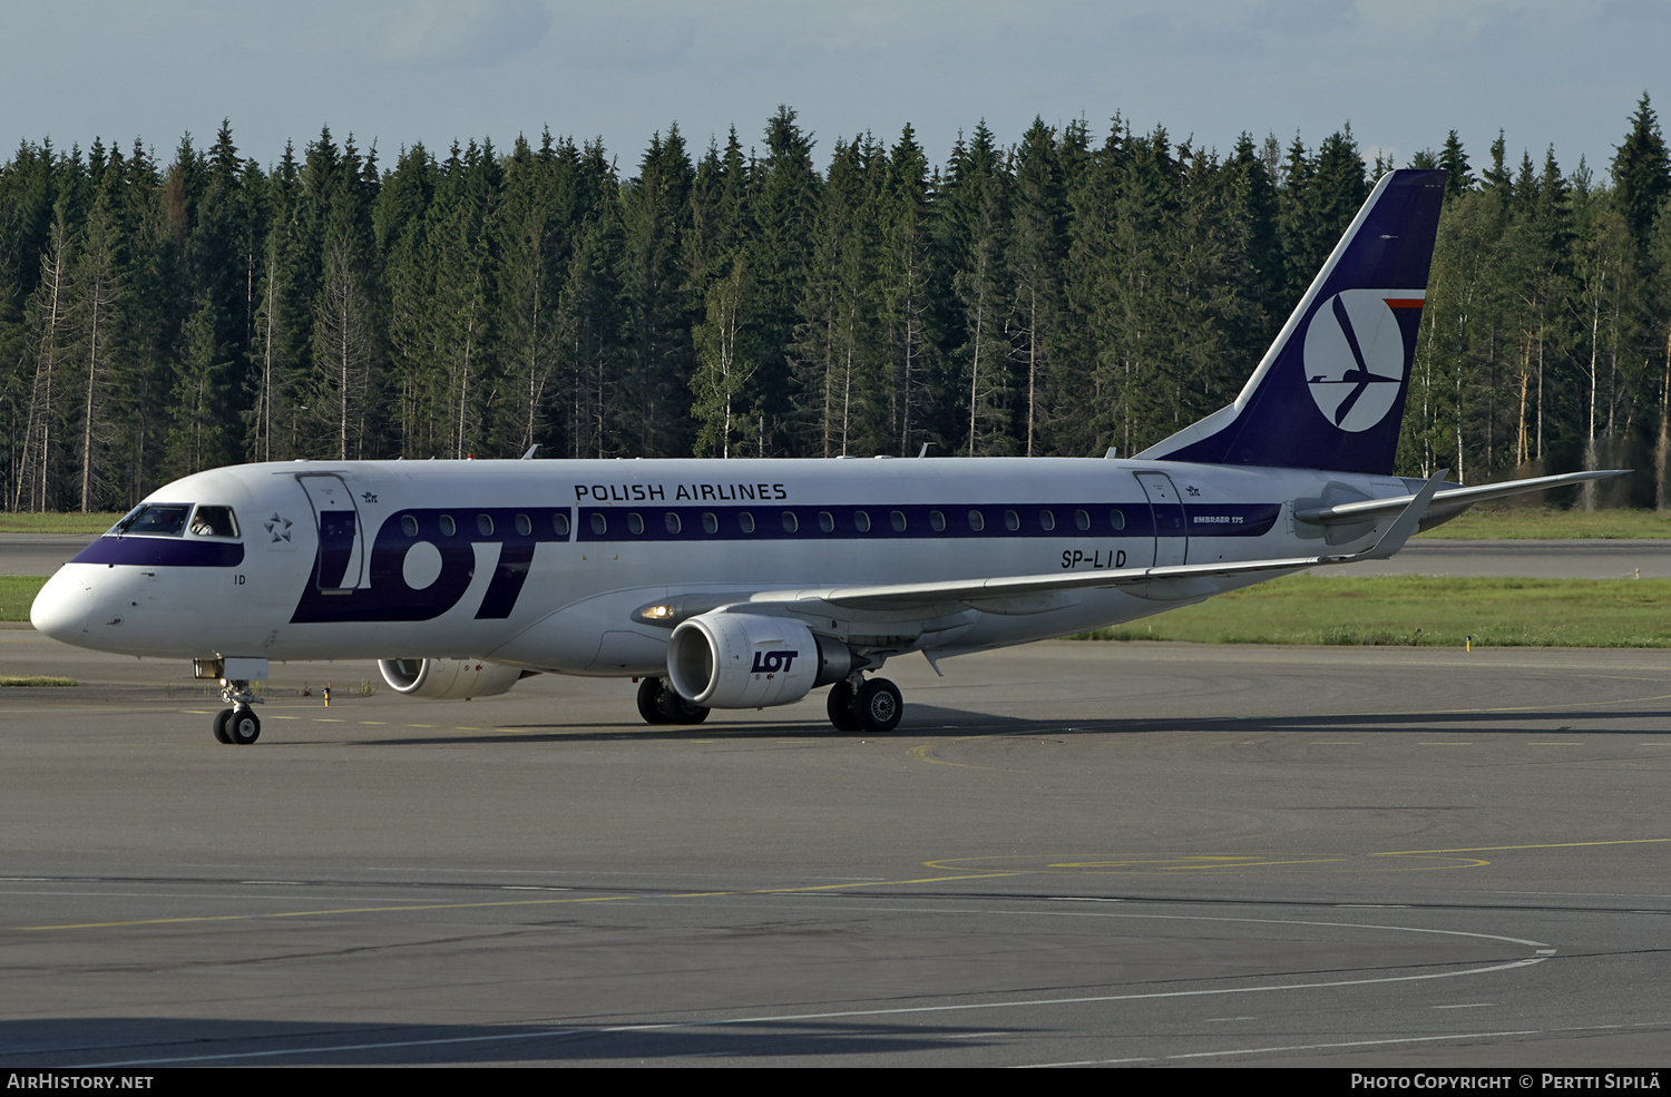
[[[413,698],[635,678],[648,723],[829,686],[891,731],[896,656],[1131,621],[1380,559],[1472,503],[1394,476],[1444,172],[1384,175],[1235,402],[1133,458],[292,461],[147,496],[35,599],[60,641],[194,661],[261,735],[272,661],[376,658]],[[530,451],[531,456],[531,451]]]

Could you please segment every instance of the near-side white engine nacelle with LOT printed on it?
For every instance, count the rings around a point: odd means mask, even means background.
[[[814,636],[794,618],[703,613],[675,628],[667,645],[673,691],[707,708],[792,705],[851,670],[847,645]]]

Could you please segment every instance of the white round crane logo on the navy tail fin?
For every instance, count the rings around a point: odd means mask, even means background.
[[[1409,354],[1394,309],[1420,309],[1410,291],[1348,289],[1312,314],[1305,386],[1342,431],[1367,431],[1399,406]]]

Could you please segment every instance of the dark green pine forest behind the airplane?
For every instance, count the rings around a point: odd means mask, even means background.
[[[0,493],[125,509],[242,461],[1121,456],[1232,401],[1394,164],[1350,127],[1228,154],[1165,129],[984,124],[931,164],[759,144],[632,167],[329,130],[0,165]],[[1455,132],[1400,473],[1634,468],[1666,506],[1671,162],[1648,95],[1604,167]]]

